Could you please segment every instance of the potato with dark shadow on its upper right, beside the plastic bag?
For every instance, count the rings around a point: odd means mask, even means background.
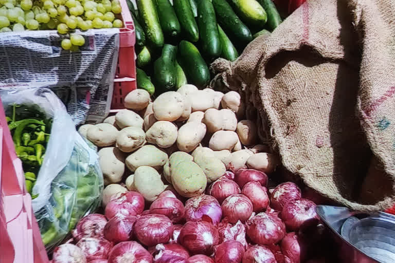
[[[99,165],[106,184],[118,183],[122,180],[125,172],[125,157],[116,147],[101,148],[99,155]]]

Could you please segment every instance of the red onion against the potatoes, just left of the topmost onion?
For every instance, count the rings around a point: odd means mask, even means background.
[[[208,189],[208,194],[216,198],[219,203],[222,203],[226,197],[240,192],[239,185],[224,176],[213,182]]]

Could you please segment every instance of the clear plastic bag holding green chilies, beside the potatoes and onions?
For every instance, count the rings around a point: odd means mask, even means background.
[[[52,127],[45,157],[32,194],[34,215],[47,250],[57,246],[78,220],[100,204],[103,177],[94,148],[76,131],[59,98],[47,88],[0,91],[5,110],[13,104],[34,106]]]

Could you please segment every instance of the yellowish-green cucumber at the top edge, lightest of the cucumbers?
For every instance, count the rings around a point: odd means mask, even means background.
[[[242,20],[250,25],[263,26],[267,21],[265,9],[256,0],[229,0]]]

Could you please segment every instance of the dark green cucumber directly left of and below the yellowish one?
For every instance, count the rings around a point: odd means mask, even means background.
[[[218,22],[234,43],[245,46],[253,40],[251,31],[241,22],[226,0],[212,0],[212,5],[216,10]]]

